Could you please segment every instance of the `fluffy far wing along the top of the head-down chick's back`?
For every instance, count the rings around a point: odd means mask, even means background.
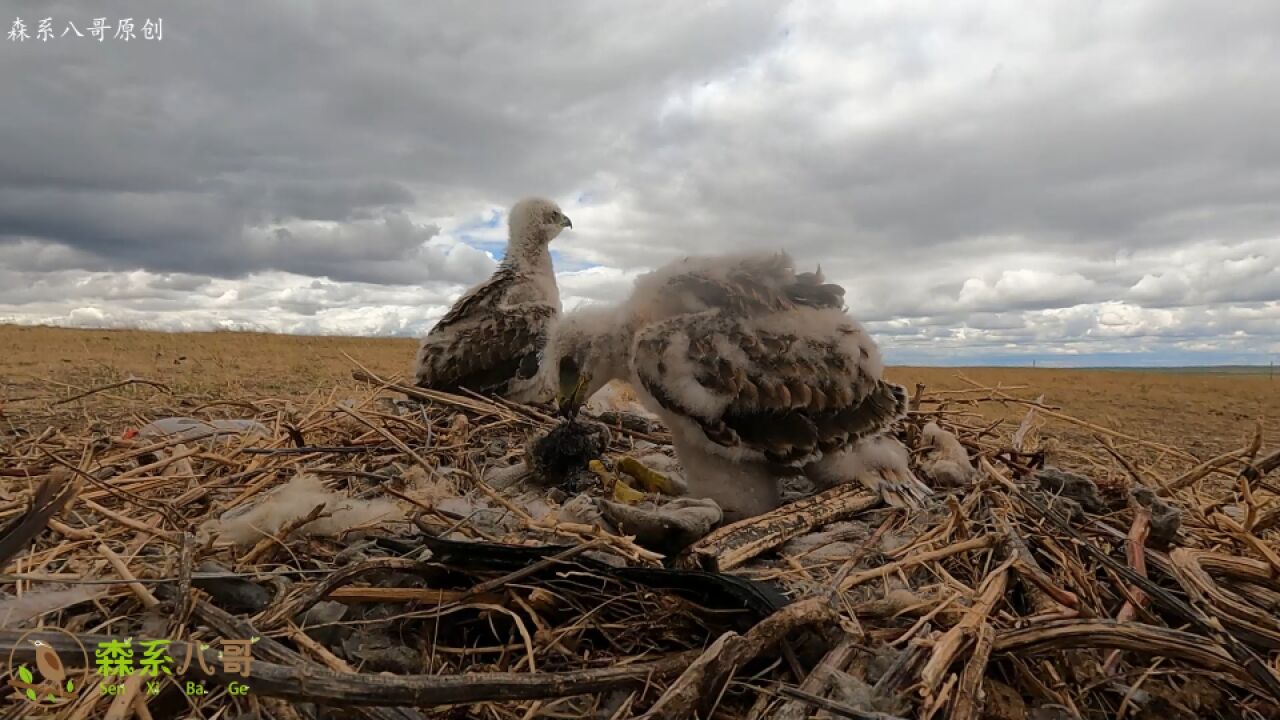
[[[845,288],[822,270],[796,273],[786,252],[677,260],[636,281],[635,302],[658,316],[721,309],[735,315],[844,307]]]

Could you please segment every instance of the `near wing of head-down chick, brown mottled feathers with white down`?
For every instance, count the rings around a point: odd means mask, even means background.
[[[708,442],[787,465],[847,447],[906,410],[906,391],[879,378],[872,340],[835,309],[669,318],[636,334],[631,361],[644,389]]]

